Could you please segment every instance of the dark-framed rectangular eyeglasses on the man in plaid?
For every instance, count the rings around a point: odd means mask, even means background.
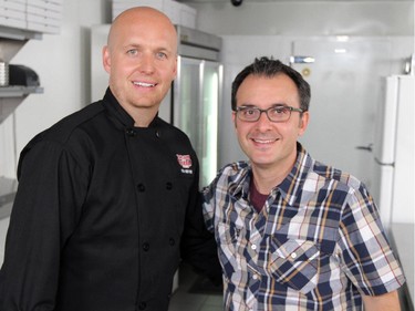
[[[243,122],[257,122],[262,113],[266,113],[271,122],[287,122],[291,116],[291,112],[303,113],[304,111],[286,105],[274,105],[267,110],[256,106],[240,106],[235,112],[238,118]]]

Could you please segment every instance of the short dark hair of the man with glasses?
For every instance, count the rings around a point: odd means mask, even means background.
[[[272,77],[278,74],[288,75],[297,85],[300,97],[300,108],[303,111],[309,110],[311,91],[309,83],[302,77],[302,75],[293,70],[292,68],[283,64],[279,60],[273,60],[272,58],[262,56],[260,59],[255,59],[253,63],[246,66],[234,80],[232,82],[232,93],[231,93],[231,107],[232,111],[237,108],[237,92],[240,84],[248,75],[267,76]]]

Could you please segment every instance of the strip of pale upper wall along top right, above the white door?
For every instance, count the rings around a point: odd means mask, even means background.
[[[217,34],[413,35],[414,1],[184,1]]]

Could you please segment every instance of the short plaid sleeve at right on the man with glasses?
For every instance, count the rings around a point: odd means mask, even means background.
[[[342,269],[361,292],[378,296],[405,282],[376,206],[364,186],[349,194],[339,232]]]

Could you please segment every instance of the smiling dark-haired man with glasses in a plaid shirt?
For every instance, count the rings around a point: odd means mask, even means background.
[[[234,81],[249,160],[225,166],[204,190],[225,310],[400,310],[405,279],[367,189],[297,142],[309,102],[309,84],[277,60],[257,59]]]

